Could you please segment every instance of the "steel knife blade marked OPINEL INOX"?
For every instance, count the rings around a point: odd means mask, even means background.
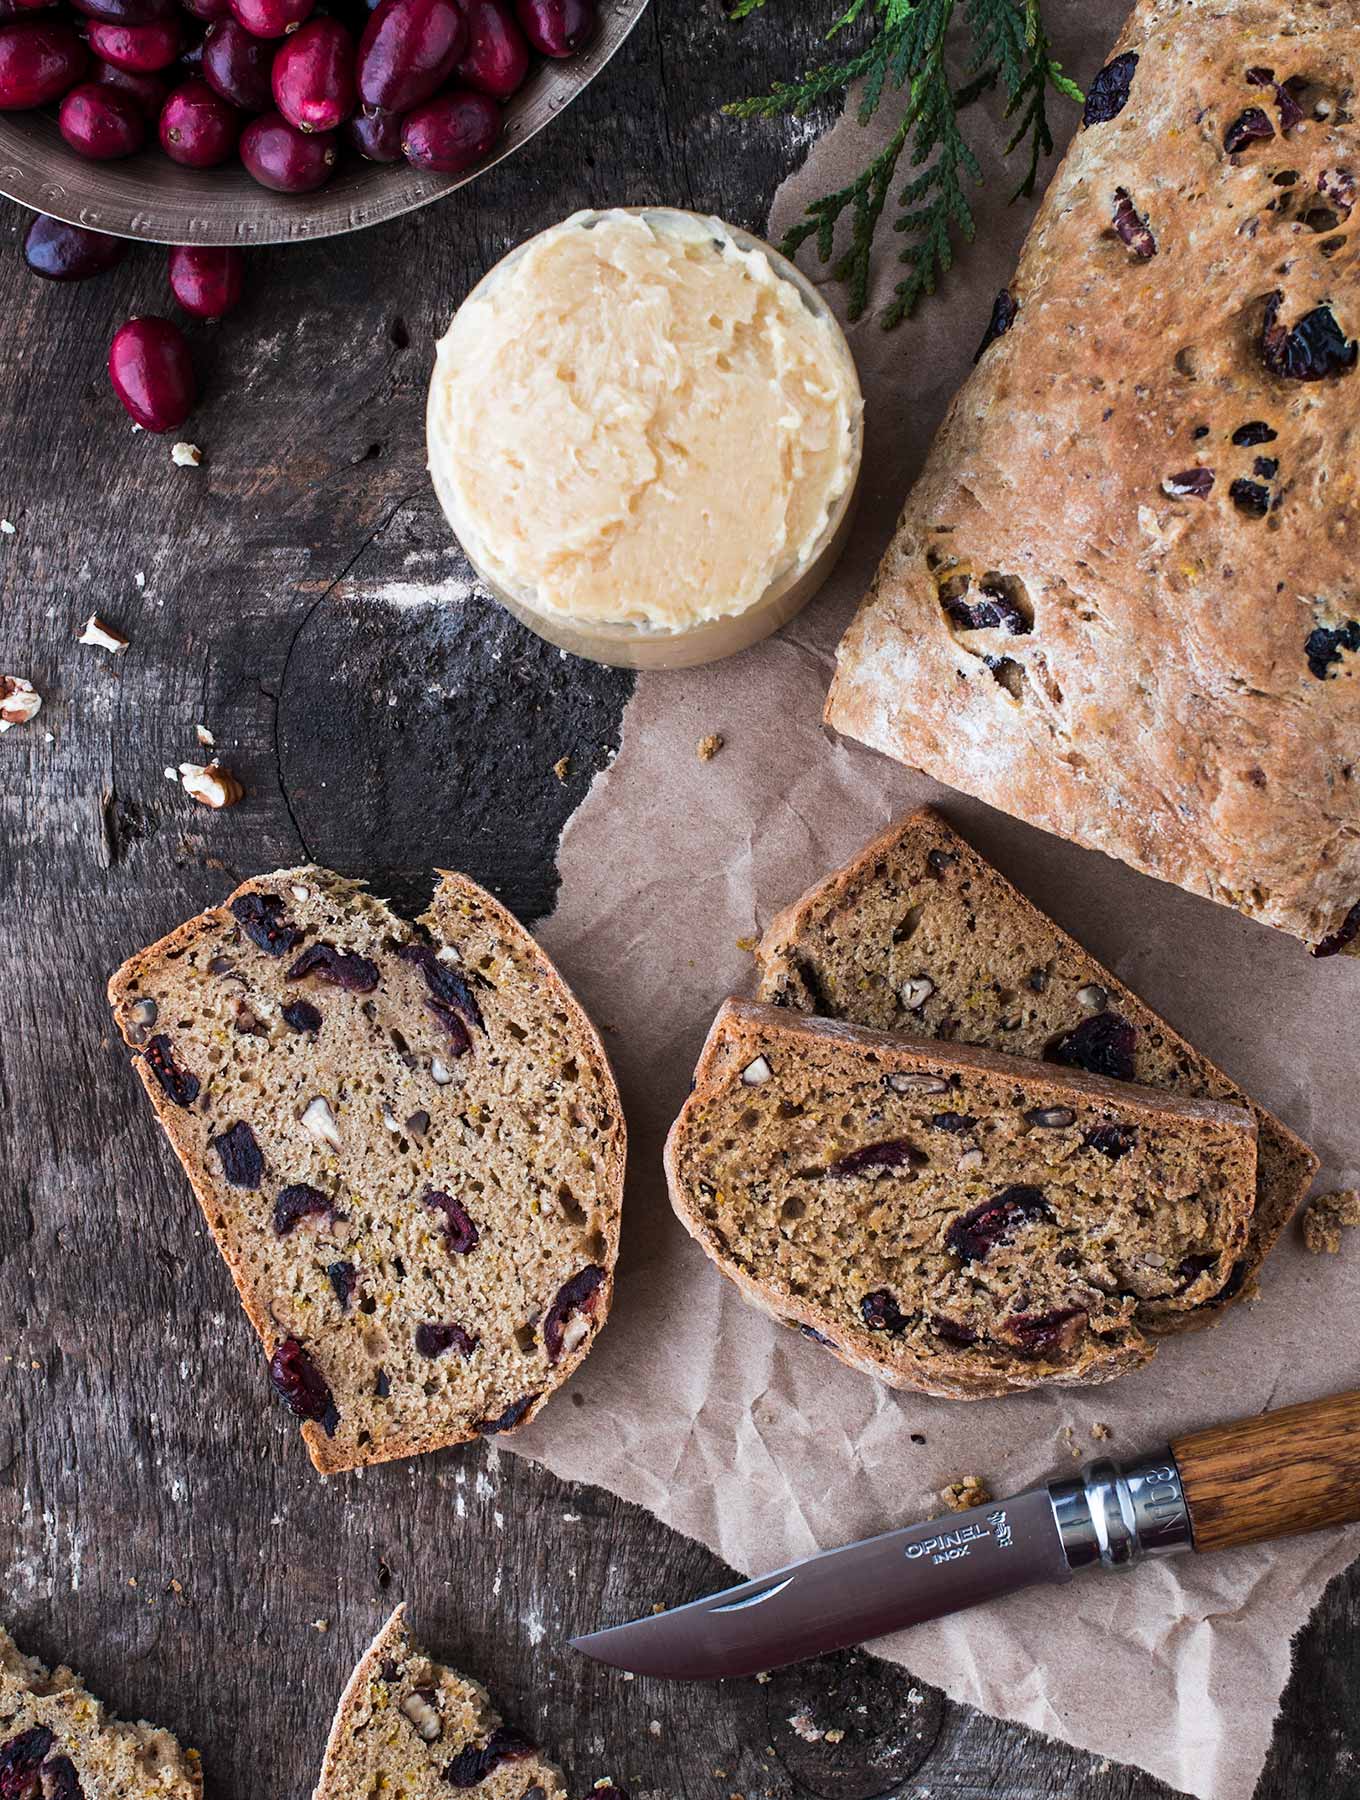
[[[822,1550],[707,1600],[572,1638],[572,1649],[640,1676],[752,1676],[1070,1575],[1049,1490],[1033,1489]]]

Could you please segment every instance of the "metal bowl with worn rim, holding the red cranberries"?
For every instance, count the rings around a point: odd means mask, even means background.
[[[185,169],[158,151],[88,162],[67,148],[49,113],[0,113],[0,194],[72,225],[148,243],[297,243],[362,230],[452,194],[514,155],[595,79],[646,4],[603,0],[590,45],[568,61],[534,68],[506,108],[495,153],[464,175],[423,175],[405,162],[354,155],[317,193],[275,194],[239,164]]]

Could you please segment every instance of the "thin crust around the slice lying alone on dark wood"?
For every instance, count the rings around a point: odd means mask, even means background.
[[[613,1269],[619,1256],[622,1184],[624,1184],[624,1166],[628,1154],[628,1134],[622,1114],[622,1103],[619,1100],[617,1082],[613,1078],[613,1069],[610,1067],[604,1044],[601,1042],[595,1026],[586,1017],[581,1003],[567,986],[567,981],[563,979],[556,965],[550,961],[547,952],[538,945],[538,941],[523,929],[523,925],[520,925],[520,922],[504,905],[500,905],[500,902],[493,895],[489,895],[484,887],[479,887],[479,884],[470,880],[466,875],[459,875],[452,869],[437,869],[435,873],[439,875],[439,884],[435,887],[434,900],[426,909],[426,913],[419,916],[417,925],[423,925],[426,931],[430,931],[430,934],[435,940],[439,940],[441,918],[446,916],[448,911],[455,911],[461,902],[466,900],[475,902],[475,905],[493,922],[497,932],[502,938],[511,940],[518,947],[520,954],[527,956],[532,967],[538,970],[549,992],[554,995],[556,1006],[570,1019],[581,1051],[588,1058],[592,1078],[597,1084],[599,1091],[610,1102],[612,1127],[608,1139],[603,1147],[603,1161],[606,1175],[604,1186],[608,1195],[612,1197],[612,1204],[606,1206],[603,1222],[604,1256],[601,1258],[601,1262],[604,1267],[604,1280],[599,1287],[599,1294],[592,1309],[599,1323],[599,1328],[603,1328],[604,1323],[608,1321],[608,1312],[613,1300]],[[130,1026],[130,1008],[148,974],[151,974],[167,959],[182,956],[201,936],[219,934],[225,929],[232,929],[236,922],[232,918],[230,907],[243,895],[259,889],[291,886],[295,882],[308,884],[317,880],[324,880],[338,893],[353,893],[353,895],[365,893],[363,882],[347,882],[333,875],[329,869],[320,869],[315,864],[306,864],[295,869],[275,869],[270,875],[252,877],[250,880],[241,882],[237,887],[234,887],[219,907],[210,907],[209,911],[200,913],[196,918],[191,918],[183,925],[178,925],[174,931],[160,938],[157,943],[149,945],[146,950],[139,950],[135,956],[128,958],[128,961],[122,963],[108,981],[108,1001],[110,1006],[113,1008],[113,1015],[119,1024],[119,1030],[122,1031],[124,1042],[133,1051],[133,1067],[142,1082],[142,1087],[148,1093],[148,1098],[151,1100],[151,1105],[155,1109],[162,1130],[169,1138],[171,1147],[178,1156],[185,1175],[189,1177],[189,1184],[192,1186],[194,1195],[198,1197],[198,1202],[203,1210],[203,1217],[209,1224],[209,1229],[212,1231],[214,1242],[221,1253],[223,1262],[230,1271],[232,1282],[236,1283],[241,1307],[246,1318],[250,1319],[252,1327],[255,1328],[255,1334],[259,1336],[259,1341],[264,1346],[266,1355],[272,1355],[281,1339],[288,1334],[279,1330],[277,1323],[270,1318],[270,1309],[261,1301],[259,1294],[255,1292],[241,1255],[237,1253],[236,1246],[230,1242],[228,1235],[221,1228],[214,1195],[214,1183],[209,1179],[205,1172],[200,1145],[194,1134],[189,1132],[185,1127],[183,1111],[167,1102],[160,1084],[148,1067],[146,1058],[139,1053],[139,1044]],[[399,925],[399,920],[396,920],[396,916],[394,923]],[[523,1426],[529,1424],[531,1418],[534,1418],[541,1411],[541,1408],[552,1397],[552,1393],[556,1393],[556,1390],[563,1386],[565,1381],[570,1379],[574,1370],[585,1359],[586,1352],[590,1350],[590,1345],[594,1343],[594,1336],[597,1336],[597,1332],[586,1337],[586,1341],[576,1350],[570,1348],[563,1350],[559,1361],[554,1364],[550,1372],[550,1379],[545,1381],[543,1390],[534,1397],[525,1413],[513,1426],[502,1427],[500,1435],[522,1429]],[[432,1429],[430,1433],[421,1433],[421,1435],[412,1433],[408,1436],[385,1438],[381,1444],[374,1444],[367,1453],[347,1454],[336,1447],[336,1444],[326,1435],[324,1427],[315,1420],[304,1420],[300,1431],[308,1447],[308,1454],[311,1456],[313,1467],[322,1474],[336,1474],[344,1469],[365,1467],[378,1462],[392,1462],[403,1456],[417,1456],[425,1454],[426,1451],[446,1449],[452,1444],[466,1444],[480,1435],[475,1429],[468,1431]]]

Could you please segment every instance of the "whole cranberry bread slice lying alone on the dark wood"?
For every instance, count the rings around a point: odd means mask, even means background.
[[[318,1469],[511,1431],[585,1357],[619,1093],[488,893],[441,873],[412,927],[281,869],[133,956],[110,999]]]

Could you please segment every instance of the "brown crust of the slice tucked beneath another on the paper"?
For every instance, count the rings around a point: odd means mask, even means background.
[[[1123,1013],[1139,1030],[1141,1039],[1146,1039],[1150,1033],[1160,1035],[1164,1048],[1177,1053],[1177,1058],[1186,1058],[1194,1066],[1205,1091],[1216,1089],[1216,1098],[1252,1111],[1259,1145],[1257,1192],[1247,1255],[1241,1260],[1232,1291],[1194,1309],[1194,1312],[1178,1312],[1164,1319],[1146,1318],[1141,1323],[1150,1332],[1203,1330],[1216,1323],[1225,1305],[1254,1298],[1259,1291],[1257,1274],[1261,1264],[1274,1249],[1281,1231],[1313,1183],[1319,1166],[1317,1156],[1302,1138],[1295,1136],[1288,1125],[1252,1100],[1250,1094],[1245,1094],[1218,1064],[1180,1037],[1166,1019],[1155,1013],[1117,976],[1110,974],[1076,938],[1065,932],[1061,925],[1056,925],[1047,913],[1042,913],[980,851],[973,850],[934,806],[917,806],[905,819],[885,826],[849,862],[820,882],[813,882],[797,900],[775,913],[756,947],[759,967],[757,997],[761,1001],[774,1001],[775,995],[786,994],[790,986],[799,985],[799,947],[811,925],[817,920],[835,918],[837,914],[846,914],[847,920],[853,920],[856,896],[872,878],[874,868],[889,857],[903,855],[905,846],[916,839],[921,841],[923,855],[937,850],[946,857],[955,857],[970,875],[984,877],[991,886],[1000,887],[1004,891],[1004,905],[1015,918],[1015,934],[1034,945],[1038,961],[1045,959],[1049,945],[1056,947],[1065,959],[1079,965],[1083,981],[1097,983],[1106,990],[1114,1010]],[[854,999],[851,997],[847,1006],[853,1004]],[[919,1031],[926,1035],[928,1026],[919,1026]],[[1135,1080],[1142,1085],[1162,1085],[1142,1073],[1135,1073]],[[1166,1091],[1180,1093],[1178,1087],[1168,1087]]]

